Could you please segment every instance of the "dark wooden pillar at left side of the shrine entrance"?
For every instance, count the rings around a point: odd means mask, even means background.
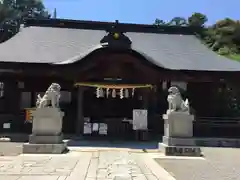
[[[77,121],[76,121],[76,134],[83,133],[84,116],[83,116],[83,89],[78,87],[77,90]]]

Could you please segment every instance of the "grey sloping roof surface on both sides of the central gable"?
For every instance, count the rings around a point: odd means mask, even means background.
[[[66,64],[101,48],[104,30],[25,27],[0,44],[0,61]],[[209,50],[194,35],[126,32],[132,49],[174,70],[240,71],[240,63]]]

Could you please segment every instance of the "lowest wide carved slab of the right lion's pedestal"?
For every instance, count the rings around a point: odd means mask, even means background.
[[[158,148],[166,156],[202,156],[200,147],[196,146],[168,146],[166,144],[159,143]]]

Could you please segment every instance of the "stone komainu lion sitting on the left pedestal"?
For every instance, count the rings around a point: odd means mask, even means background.
[[[41,97],[40,94],[37,95],[36,107],[44,108],[51,105],[53,108],[58,108],[60,91],[61,91],[61,86],[57,83],[52,83],[47,89],[47,91],[45,92],[43,97]]]

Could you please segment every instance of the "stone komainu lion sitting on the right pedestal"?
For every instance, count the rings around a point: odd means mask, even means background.
[[[180,91],[177,87],[172,86],[168,89],[168,111],[167,113],[173,112],[173,111],[189,111],[189,103],[188,99],[183,101],[182,96],[180,94]]]

